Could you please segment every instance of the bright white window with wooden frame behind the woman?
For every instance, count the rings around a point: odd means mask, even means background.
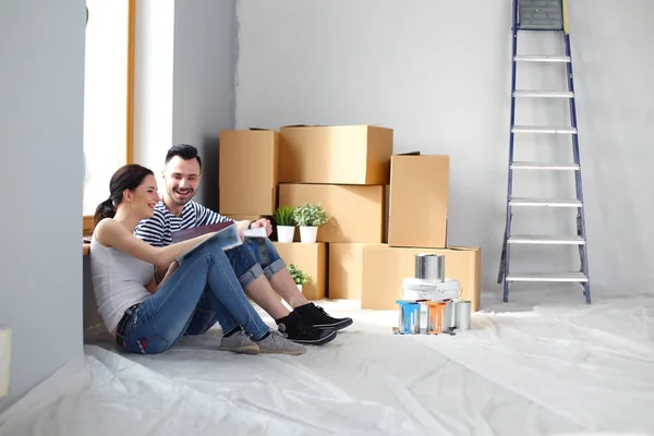
[[[132,161],[135,0],[86,0],[84,232],[109,179]]]

